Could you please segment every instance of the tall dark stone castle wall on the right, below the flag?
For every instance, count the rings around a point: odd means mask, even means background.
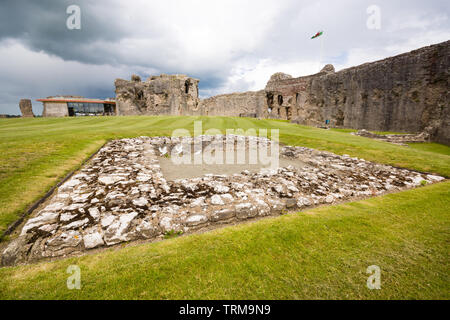
[[[305,125],[426,131],[450,143],[450,41],[339,72],[327,65],[300,78],[275,74],[266,86],[271,117]]]

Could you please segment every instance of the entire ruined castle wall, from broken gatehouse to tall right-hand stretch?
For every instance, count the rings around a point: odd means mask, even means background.
[[[117,79],[121,115],[277,118],[299,124],[405,133],[450,144],[450,41],[335,72],[274,74],[265,90],[198,98],[199,80],[161,75]]]

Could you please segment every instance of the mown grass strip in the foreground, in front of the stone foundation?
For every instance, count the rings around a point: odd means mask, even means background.
[[[449,299],[449,187],[3,268],[0,298]],[[66,287],[69,265],[80,290]],[[380,290],[366,286],[372,265]]]

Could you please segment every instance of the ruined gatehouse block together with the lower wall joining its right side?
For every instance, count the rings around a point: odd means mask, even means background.
[[[119,115],[210,115],[230,117],[267,116],[264,90],[218,95],[200,100],[199,80],[185,75],[152,76],[142,82],[117,79]]]

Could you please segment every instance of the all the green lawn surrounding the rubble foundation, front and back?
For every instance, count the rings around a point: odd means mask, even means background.
[[[449,147],[397,146],[287,122],[227,117],[0,119],[0,232],[109,139],[176,128],[276,128],[280,140],[450,176]],[[448,182],[341,206],[0,270],[0,298],[448,299]],[[220,263],[218,263],[220,262]],[[69,264],[82,290],[65,286]],[[382,269],[382,289],[365,270]]]

